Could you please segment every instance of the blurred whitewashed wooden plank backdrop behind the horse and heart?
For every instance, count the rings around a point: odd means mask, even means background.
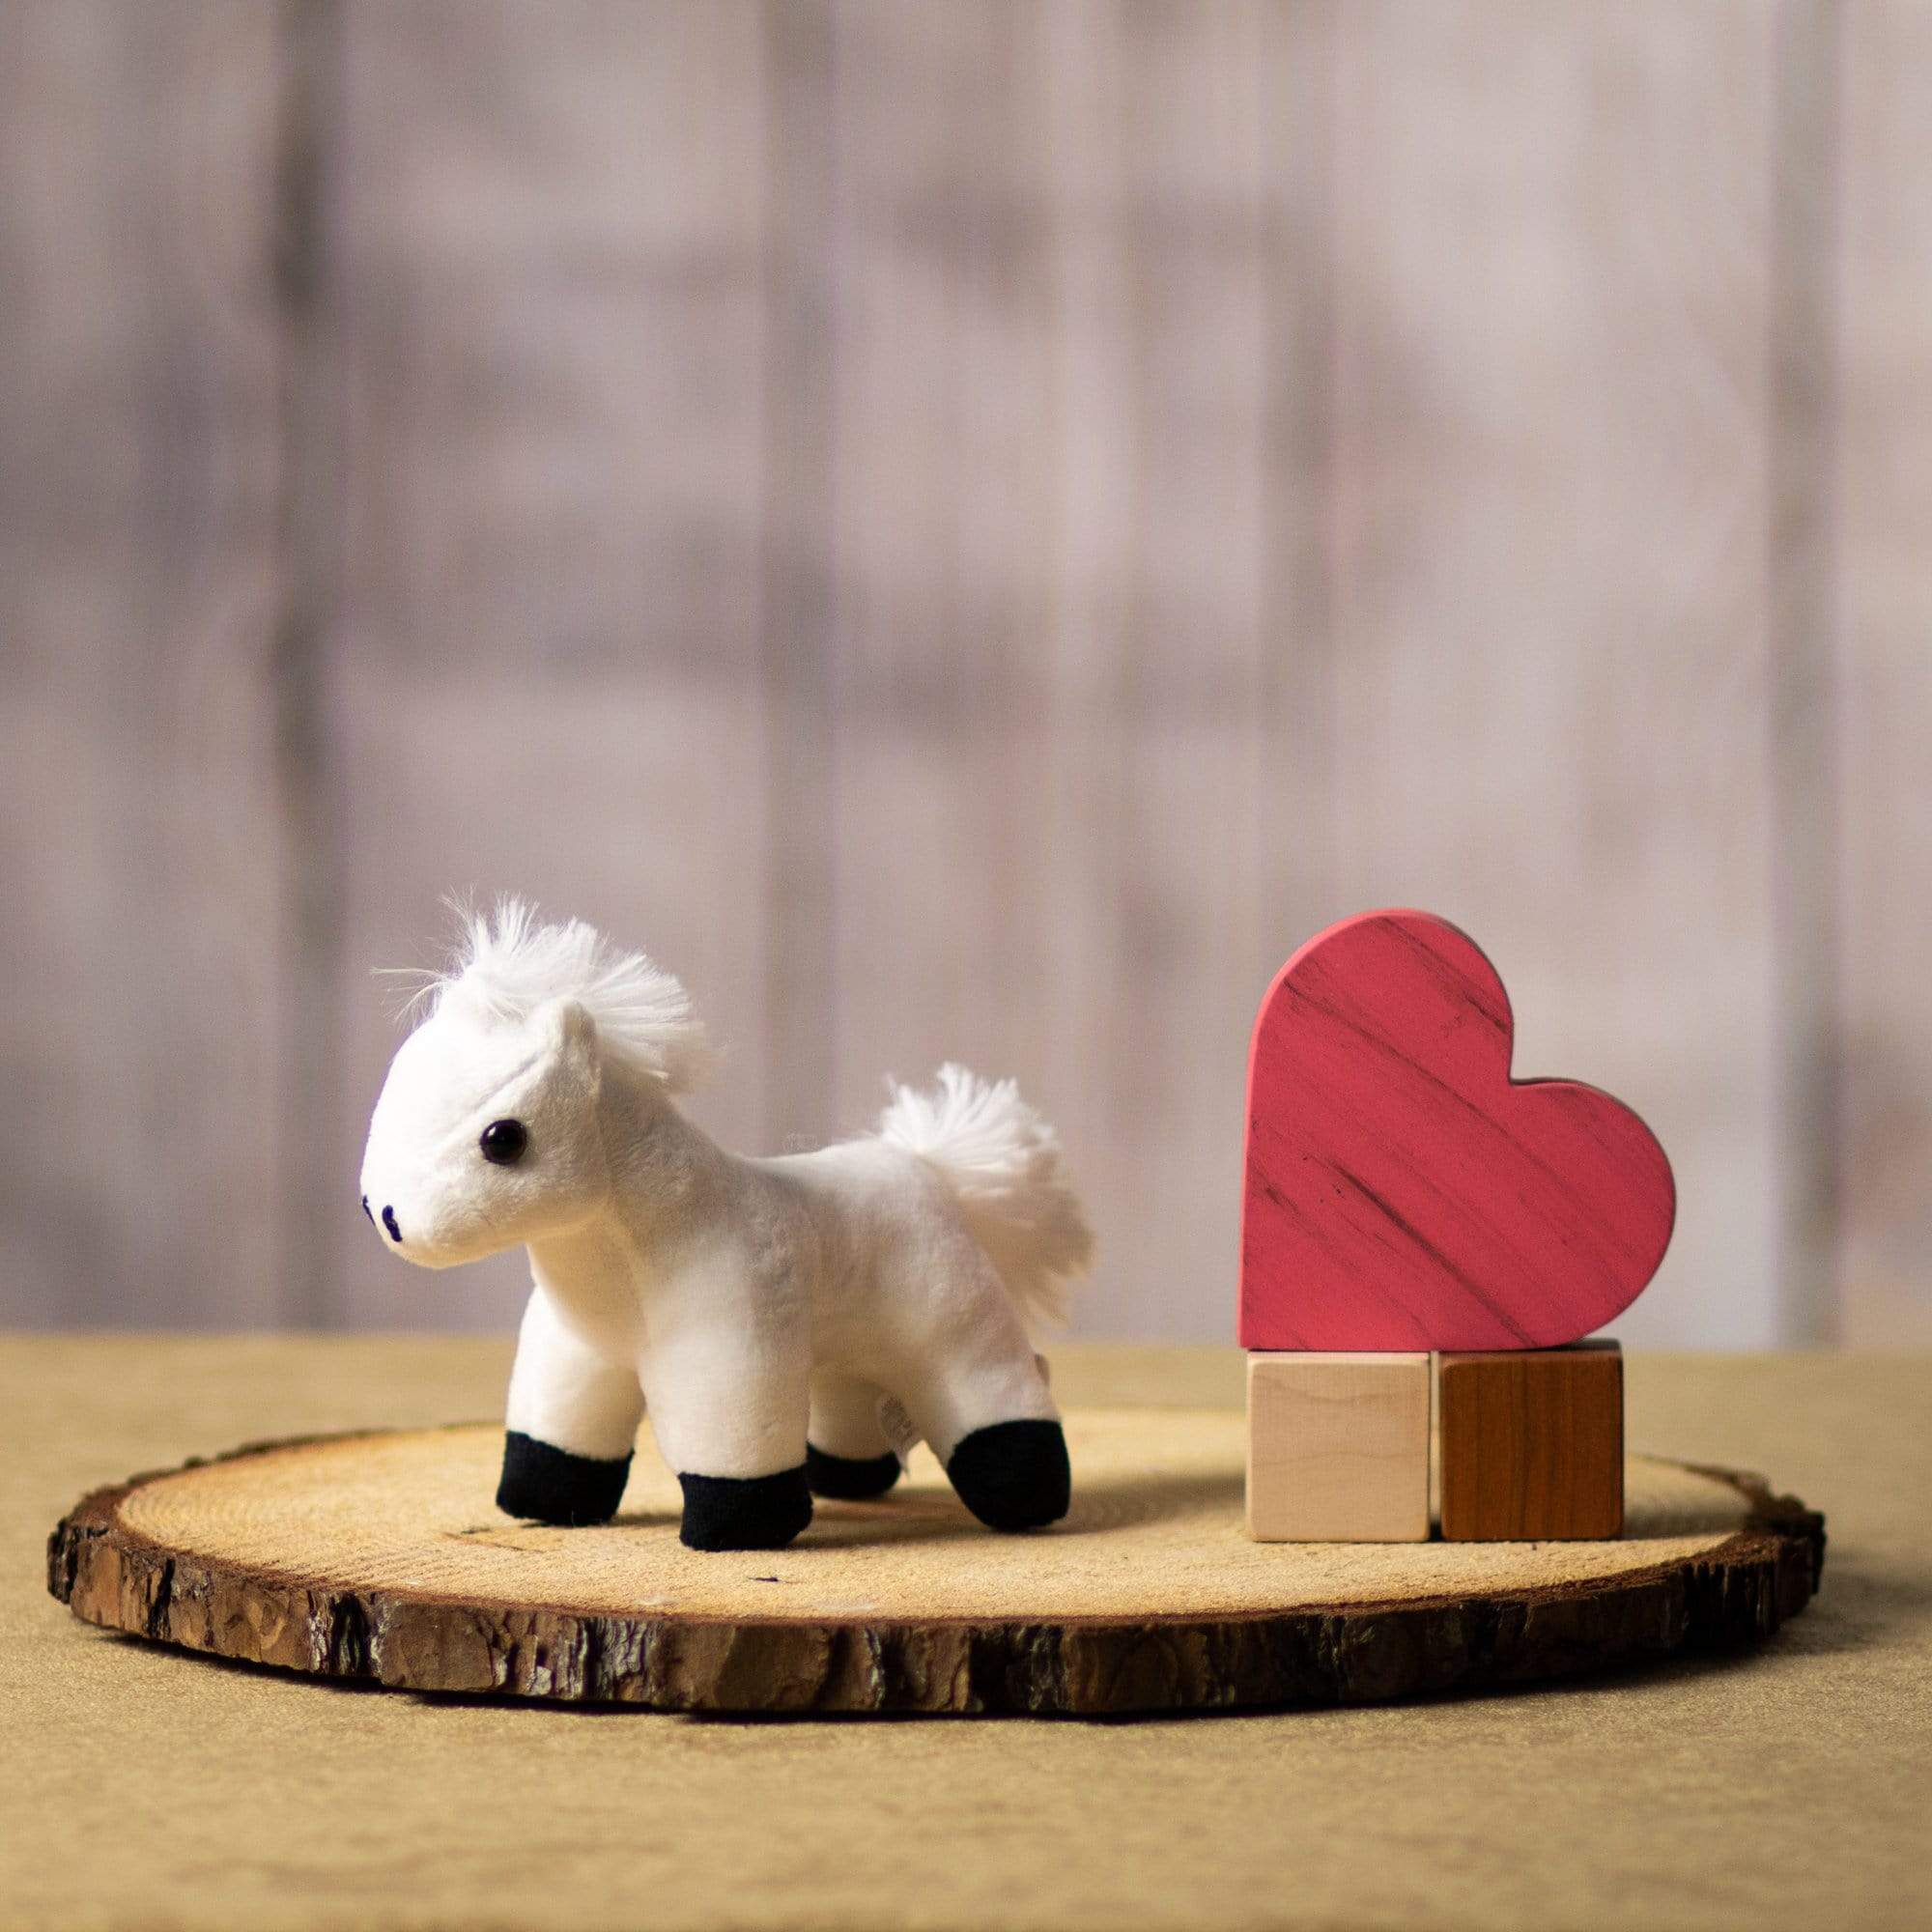
[[[1932,10],[0,6],[0,1318],[502,1325],[355,1213],[450,887],[748,1148],[956,1055],[1225,1337],[1422,902],[1679,1173],[1621,1333],[1932,1337]]]

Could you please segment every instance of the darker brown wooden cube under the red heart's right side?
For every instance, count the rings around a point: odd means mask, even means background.
[[[1623,1532],[1623,1350],[1613,1341],[1445,1354],[1437,1387],[1445,1538]]]

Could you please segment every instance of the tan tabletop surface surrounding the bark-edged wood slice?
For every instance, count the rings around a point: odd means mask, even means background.
[[[508,1343],[0,1345],[0,1926],[1926,1926],[1932,1358],[1634,1356],[1631,1445],[1830,1520],[1768,1650],[1258,1718],[717,1721],[425,1700],[87,1629],[83,1490],[491,1414]],[[1238,1403],[1065,1349],[1068,1403]]]

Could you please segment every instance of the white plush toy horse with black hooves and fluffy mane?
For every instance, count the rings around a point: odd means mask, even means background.
[[[1092,1235],[1010,1080],[943,1066],[860,1140],[746,1159],[674,1103],[705,1065],[676,980],[516,900],[466,925],[361,1188],[425,1267],[529,1248],[498,1507],[605,1520],[649,1412],[696,1549],[788,1544],[813,1492],[883,1495],[920,1437],[981,1522],[1066,1513],[1026,1318],[1057,1310]]]

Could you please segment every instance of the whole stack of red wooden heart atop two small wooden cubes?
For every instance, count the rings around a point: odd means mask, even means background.
[[[1669,1244],[1669,1161],[1629,1107],[1509,1076],[1474,941],[1424,912],[1312,939],[1248,1065],[1240,1343],[1248,1534],[1615,1536],[1623,1356],[1584,1335]]]

